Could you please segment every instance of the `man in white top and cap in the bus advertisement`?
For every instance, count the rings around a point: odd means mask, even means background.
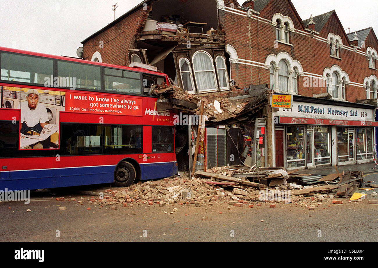
[[[39,103],[39,92],[36,89],[28,90],[26,100],[21,103],[21,133],[27,136],[32,135],[33,131],[40,134],[49,121],[46,106]],[[50,136],[41,141],[43,149],[50,149],[50,141]]]

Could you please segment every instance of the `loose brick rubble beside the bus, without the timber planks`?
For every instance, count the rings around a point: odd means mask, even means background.
[[[206,181],[201,178],[166,178],[160,181],[146,181],[133,184],[116,191],[107,190],[103,199],[92,198],[91,203],[100,206],[123,204],[132,206],[140,204],[196,204],[214,201],[231,201],[256,198],[259,191],[256,189],[224,189],[213,181]]]

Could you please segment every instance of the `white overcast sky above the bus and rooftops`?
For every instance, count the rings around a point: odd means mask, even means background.
[[[0,0],[0,46],[76,57],[81,41],[113,21],[117,2],[116,18],[142,0]],[[292,2],[302,20],[335,9],[346,33],[373,26],[378,34],[377,0]]]

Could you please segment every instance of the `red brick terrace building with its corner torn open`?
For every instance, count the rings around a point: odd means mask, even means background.
[[[206,122],[208,167],[240,164],[245,146],[260,167],[373,161],[378,40],[345,33],[335,10],[302,20],[290,0],[146,0],[82,43],[84,59],[152,65],[198,99],[249,103]],[[272,108],[272,94],[292,107]]]

